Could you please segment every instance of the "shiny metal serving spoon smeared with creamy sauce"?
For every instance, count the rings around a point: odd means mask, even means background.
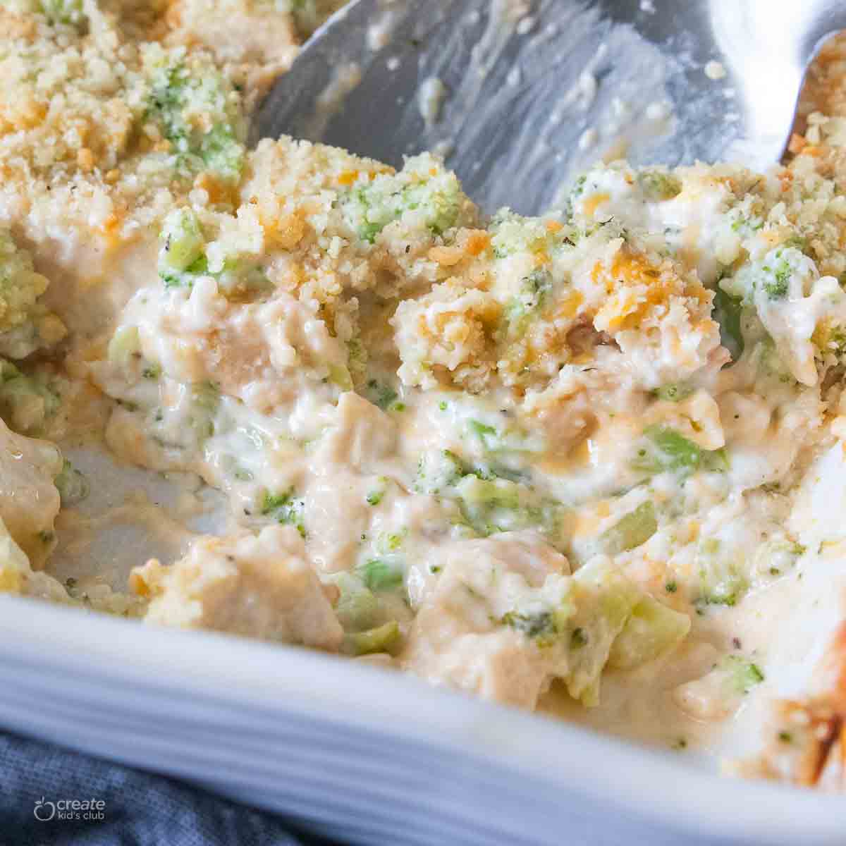
[[[486,211],[536,213],[599,157],[779,160],[843,0],[357,0],[306,42],[258,137],[399,166],[441,151]]]

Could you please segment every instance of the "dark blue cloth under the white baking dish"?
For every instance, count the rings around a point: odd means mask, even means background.
[[[0,732],[0,846],[340,844],[172,778]]]

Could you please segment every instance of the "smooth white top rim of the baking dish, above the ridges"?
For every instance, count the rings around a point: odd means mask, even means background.
[[[0,596],[0,676],[3,663],[8,667],[13,659],[51,673],[57,684],[63,673],[99,676],[128,691],[158,687],[198,700],[211,696],[248,710],[307,714],[432,751],[470,755],[699,835],[776,843],[834,843],[843,835],[846,802],[836,795],[720,777],[685,764],[677,753],[301,647]],[[602,766],[586,767],[585,761]]]

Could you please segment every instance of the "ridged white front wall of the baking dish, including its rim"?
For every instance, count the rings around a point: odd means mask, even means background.
[[[0,725],[371,844],[843,846],[846,799],[374,667],[0,597]]]

